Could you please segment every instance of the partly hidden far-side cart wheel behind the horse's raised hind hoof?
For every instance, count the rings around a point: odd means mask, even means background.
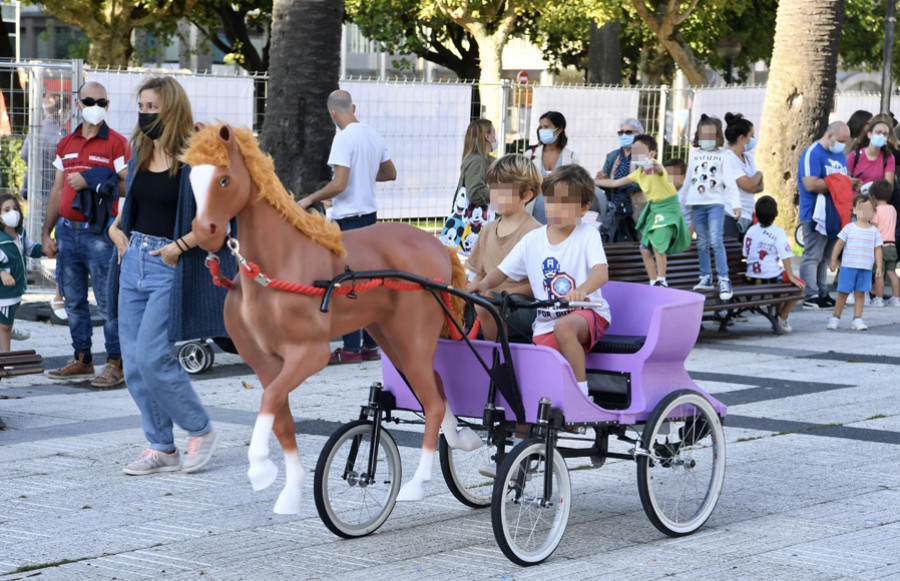
[[[484,476],[479,470],[493,467],[493,456],[497,453],[497,447],[488,444],[487,430],[473,429],[485,442],[481,448],[473,452],[454,450],[441,434],[438,451],[441,458],[441,472],[453,496],[466,506],[484,508],[491,504],[494,478]]]

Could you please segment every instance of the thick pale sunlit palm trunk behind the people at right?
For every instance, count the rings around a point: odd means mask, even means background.
[[[778,5],[756,164],[786,232],[797,224],[800,154],[825,133],[833,108],[843,18],[844,0]]]

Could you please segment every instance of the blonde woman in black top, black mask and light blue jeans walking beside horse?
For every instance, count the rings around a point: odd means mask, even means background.
[[[212,318],[210,311],[188,308],[184,300],[190,292],[186,288],[202,280],[202,253],[194,250],[190,232],[196,212],[190,168],[178,160],[194,125],[187,95],[171,77],[145,81],[138,90],[138,110],[125,206],[110,237],[121,263],[118,311],[125,383],[141,410],[149,447],[124,471],[135,476],[194,472],[209,461],[216,442],[209,415],[172,353],[174,341],[186,338],[185,330],[194,324],[192,317]],[[221,312],[219,306],[219,321]],[[175,424],[189,436],[184,458],[175,447]]]

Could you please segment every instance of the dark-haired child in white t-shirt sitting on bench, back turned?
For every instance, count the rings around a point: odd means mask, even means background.
[[[756,201],[754,213],[759,224],[751,226],[744,235],[747,281],[751,284],[791,282],[800,290],[806,290],[806,283],[797,278],[791,268],[794,252],[787,234],[772,223],[778,216],[778,202],[772,196],[762,196]],[[779,259],[784,265],[783,269],[778,263]],[[778,326],[785,333],[793,330],[787,319],[798,302],[799,299],[782,303],[778,307]]]

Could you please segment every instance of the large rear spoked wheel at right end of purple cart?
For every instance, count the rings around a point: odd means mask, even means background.
[[[709,401],[680,390],[654,408],[644,427],[638,492],[650,522],[671,537],[688,535],[712,515],[725,481],[725,433]]]

